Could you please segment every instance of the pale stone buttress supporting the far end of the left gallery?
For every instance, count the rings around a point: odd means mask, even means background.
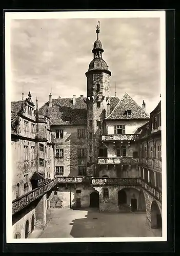
[[[46,225],[46,194],[38,200],[35,207],[36,228],[43,229]]]

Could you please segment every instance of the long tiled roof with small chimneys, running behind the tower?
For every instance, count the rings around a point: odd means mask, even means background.
[[[118,101],[117,97],[110,97],[111,111]],[[72,98],[52,99],[51,107],[48,101],[39,111],[50,118],[51,125],[82,125],[87,123],[87,104],[81,98],[76,98],[75,105],[73,105]]]

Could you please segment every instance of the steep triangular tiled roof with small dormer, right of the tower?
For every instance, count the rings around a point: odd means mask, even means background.
[[[125,112],[131,110],[131,116],[127,116]],[[127,93],[123,95],[117,103],[114,110],[106,118],[107,120],[117,119],[149,119],[150,115],[141,108]]]

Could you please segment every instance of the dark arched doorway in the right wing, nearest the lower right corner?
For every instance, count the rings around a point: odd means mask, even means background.
[[[155,201],[151,204],[151,228],[162,229],[162,216]]]

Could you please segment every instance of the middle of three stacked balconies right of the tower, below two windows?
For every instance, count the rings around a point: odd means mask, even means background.
[[[98,157],[98,164],[137,164],[138,158],[133,157]]]

